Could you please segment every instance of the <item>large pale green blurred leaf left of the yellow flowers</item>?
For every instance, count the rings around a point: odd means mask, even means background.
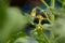
[[[23,16],[17,8],[9,8],[5,16],[5,22],[0,31],[2,43],[5,43],[11,33],[23,30],[28,24],[26,16]]]

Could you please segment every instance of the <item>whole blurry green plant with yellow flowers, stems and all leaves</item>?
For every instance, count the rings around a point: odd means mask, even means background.
[[[0,0],[0,43],[65,43],[65,8],[55,9],[55,0],[51,0],[51,8],[44,0],[41,2],[47,6],[44,11],[39,8],[43,16],[41,13],[36,15],[35,10],[31,17],[27,13],[23,15],[18,8],[10,6],[10,0]],[[64,1],[60,2],[65,5]],[[41,24],[44,16],[50,24]],[[38,18],[38,24],[34,23],[35,18]],[[35,26],[35,29],[30,30],[31,37],[23,32],[29,24]]]

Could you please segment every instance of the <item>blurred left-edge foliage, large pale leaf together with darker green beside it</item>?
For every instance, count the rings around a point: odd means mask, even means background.
[[[9,1],[9,0],[8,0]],[[5,43],[11,33],[17,32],[28,24],[20,9],[10,8],[6,0],[0,0],[0,40]]]

